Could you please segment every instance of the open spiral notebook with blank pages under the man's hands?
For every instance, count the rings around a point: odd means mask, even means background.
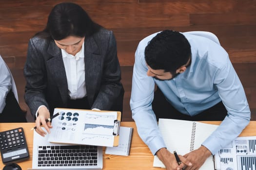
[[[176,151],[184,155],[201,146],[204,140],[210,136],[218,125],[206,124],[197,121],[159,119],[158,127],[167,149],[173,153]],[[164,164],[154,157],[153,167],[162,167]],[[210,156],[200,170],[214,170],[213,156]]]

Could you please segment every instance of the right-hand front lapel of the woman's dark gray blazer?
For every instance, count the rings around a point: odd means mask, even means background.
[[[85,38],[84,41],[84,66],[85,66],[85,86],[87,99],[90,105],[93,104],[94,94],[97,87],[98,74],[101,69],[101,60],[99,59],[98,45],[93,36]]]

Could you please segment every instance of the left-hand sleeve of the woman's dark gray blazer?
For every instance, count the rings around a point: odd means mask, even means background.
[[[36,114],[40,105],[45,105],[48,108],[45,100],[47,85],[45,62],[42,54],[37,50],[34,41],[39,40],[29,40],[27,60],[23,70],[26,79],[24,99],[32,115]],[[36,44],[42,46],[43,43],[37,42]]]

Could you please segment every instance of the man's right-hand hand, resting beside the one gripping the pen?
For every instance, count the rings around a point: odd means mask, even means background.
[[[183,168],[183,170],[199,170],[199,168],[203,165],[205,160],[211,156],[211,154],[212,153],[203,145],[197,150],[185,154],[184,157],[192,163],[192,166],[186,167],[185,169]]]

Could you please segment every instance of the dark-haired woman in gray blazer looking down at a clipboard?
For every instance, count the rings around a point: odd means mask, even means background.
[[[93,22],[75,3],[57,4],[46,28],[29,40],[24,66],[25,101],[36,131],[56,107],[122,111],[123,86],[112,31]]]

